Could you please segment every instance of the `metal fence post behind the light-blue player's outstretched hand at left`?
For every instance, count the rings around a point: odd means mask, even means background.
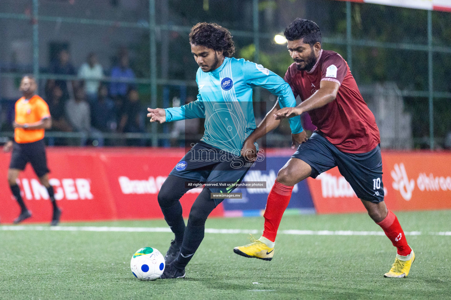
[[[149,40],[150,40],[150,105],[156,108],[156,44],[155,44],[155,0],[149,0]],[[156,123],[152,123],[152,146],[158,146]]]

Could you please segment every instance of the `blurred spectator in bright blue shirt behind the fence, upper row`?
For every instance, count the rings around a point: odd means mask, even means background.
[[[111,69],[111,79],[120,80],[134,80],[135,73],[129,67],[129,56],[126,52],[122,52],[119,58],[119,66],[115,66]],[[134,84],[129,82],[111,82],[110,84],[110,96],[115,100],[115,105],[118,110],[122,109],[127,97],[127,91],[130,88],[135,88]]]

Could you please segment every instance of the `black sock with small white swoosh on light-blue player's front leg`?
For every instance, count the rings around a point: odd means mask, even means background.
[[[173,265],[177,269],[184,269],[193,258],[194,252],[198,249],[205,233],[205,224],[193,226],[188,223],[183,237],[183,244],[180,248],[179,256],[174,260]]]

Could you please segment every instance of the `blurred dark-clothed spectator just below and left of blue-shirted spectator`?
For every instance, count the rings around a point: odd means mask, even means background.
[[[100,84],[97,101],[92,104],[92,125],[103,132],[114,132],[117,128],[116,109],[108,97],[108,88]]]

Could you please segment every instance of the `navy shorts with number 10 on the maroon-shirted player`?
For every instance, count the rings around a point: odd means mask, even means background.
[[[345,153],[315,132],[291,157],[308,163],[312,167],[312,178],[338,166],[357,197],[374,203],[384,200],[380,145],[366,153]]]

